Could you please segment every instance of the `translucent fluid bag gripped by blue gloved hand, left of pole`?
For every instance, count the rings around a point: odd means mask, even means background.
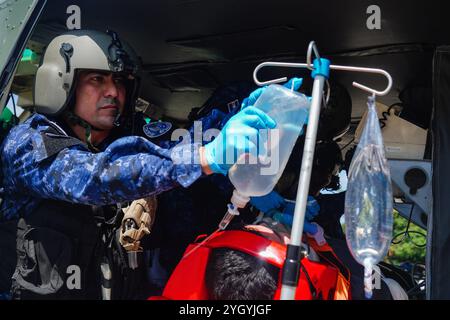
[[[310,101],[281,85],[267,87],[254,107],[275,120],[275,129],[260,130],[257,152],[243,154],[228,171],[236,190],[247,197],[263,196],[275,187],[305,124]]]

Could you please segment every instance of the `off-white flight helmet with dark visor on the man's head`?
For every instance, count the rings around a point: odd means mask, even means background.
[[[131,80],[127,104],[133,104],[138,87],[139,61],[115,32],[76,30],[54,38],[36,73],[34,105],[38,113],[56,116],[63,112],[74,91],[77,70],[124,73]],[[133,112],[134,110],[131,110]]]

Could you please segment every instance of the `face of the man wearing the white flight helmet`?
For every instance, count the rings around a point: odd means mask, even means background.
[[[94,127],[110,130],[125,106],[125,78],[103,71],[79,73],[74,113]]]

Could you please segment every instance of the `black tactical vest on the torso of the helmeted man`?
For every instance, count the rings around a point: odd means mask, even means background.
[[[12,298],[142,297],[145,268],[128,268],[119,243],[122,216],[113,208],[44,200],[17,223]]]

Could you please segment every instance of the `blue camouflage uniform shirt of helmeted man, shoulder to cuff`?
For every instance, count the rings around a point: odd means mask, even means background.
[[[68,139],[73,142],[67,143]],[[70,146],[54,152],[59,140]],[[128,136],[93,153],[55,123],[35,114],[14,127],[2,147],[3,217],[17,217],[19,211],[26,215],[41,199],[107,205],[176,185],[188,187],[202,175],[199,145],[177,148],[172,152],[145,138]]]

